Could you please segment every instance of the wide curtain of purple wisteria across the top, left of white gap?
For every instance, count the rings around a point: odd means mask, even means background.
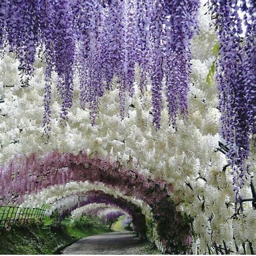
[[[51,73],[58,74],[60,120],[65,124],[73,100],[73,76],[79,75],[80,105],[89,107],[92,123],[100,98],[119,87],[120,116],[126,96],[152,84],[153,124],[160,127],[163,79],[170,120],[187,113],[190,39],[197,24],[199,0],[2,0],[0,49],[17,53],[26,85],[33,76],[36,52],[43,52],[45,95],[43,126],[51,130]],[[5,47],[6,46],[6,47]]]

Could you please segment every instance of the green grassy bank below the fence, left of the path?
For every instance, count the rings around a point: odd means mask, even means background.
[[[0,228],[0,254],[55,254],[58,248],[88,235],[110,232],[83,223],[53,227],[37,221]]]

